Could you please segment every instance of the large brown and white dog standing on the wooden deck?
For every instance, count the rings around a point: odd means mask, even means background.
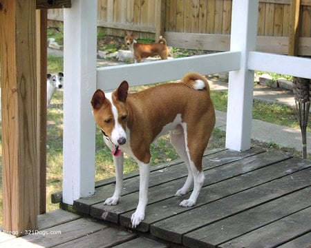
[[[97,90],[91,100],[93,116],[103,138],[113,152],[115,192],[105,205],[116,205],[123,180],[123,152],[133,156],[140,169],[138,207],[131,216],[133,227],[144,220],[148,201],[150,145],[155,138],[170,131],[171,143],[185,161],[188,177],[176,196],[194,190],[180,206],[196,204],[204,181],[202,156],[215,125],[215,111],[204,76],[186,74],[181,83],[167,83],[128,94],[129,84],[123,81],[115,92]]]

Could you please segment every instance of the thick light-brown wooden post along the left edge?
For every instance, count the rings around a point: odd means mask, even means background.
[[[35,1],[0,0],[3,229],[37,228]]]

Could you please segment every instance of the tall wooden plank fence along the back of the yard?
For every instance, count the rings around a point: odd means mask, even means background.
[[[257,50],[288,54],[291,14],[296,0],[260,0]],[[299,8],[298,54],[311,55],[311,0]],[[98,0],[97,24],[106,34],[138,32],[140,38],[164,34],[169,45],[196,50],[229,50],[232,0]],[[49,10],[62,20],[62,10]]]

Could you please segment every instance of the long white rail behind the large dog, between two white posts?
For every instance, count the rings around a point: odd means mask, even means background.
[[[219,52],[180,59],[97,68],[97,88],[114,90],[126,80],[129,85],[147,85],[181,79],[187,72],[212,74],[240,68],[241,52]]]

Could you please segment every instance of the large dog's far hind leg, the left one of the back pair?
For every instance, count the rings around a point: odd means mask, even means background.
[[[182,161],[185,162],[188,169],[188,176],[185,184],[180,189],[178,189],[178,191],[175,194],[175,196],[183,196],[188,193],[191,185],[193,185],[194,183],[194,176],[191,171],[190,161],[186,151],[184,130],[182,130],[181,126],[178,126],[176,130],[170,132],[170,136],[171,136],[171,144],[173,145],[173,147],[175,147],[176,152],[178,153]]]

